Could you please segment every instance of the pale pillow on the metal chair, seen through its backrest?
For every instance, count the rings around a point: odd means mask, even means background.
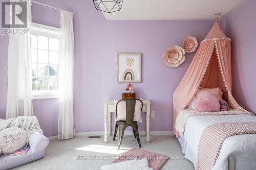
[[[119,100],[114,100],[115,103],[115,108],[116,108],[116,104]],[[126,121],[126,104],[125,101],[120,101],[118,103],[118,107],[117,107],[117,117],[118,120],[121,121]],[[140,101],[136,101],[135,104],[135,113],[134,113],[134,118],[133,118],[134,122],[142,122],[142,118],[141,118],[141,102]]]

